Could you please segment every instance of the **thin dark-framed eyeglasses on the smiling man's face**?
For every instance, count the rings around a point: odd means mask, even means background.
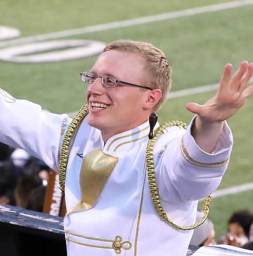
[[[91,73],[91,72],[86,72],[86,71],[81,72],[80,76],[82,78],[82,82],[85,82],[87,84],[93,84],[97,78],[101,78],[101,83],[105,87],[113,88],[113,87],[116,87],[119,84],[126,84],[126,85],[137,86],[137,87],[153,90],[150,87],[124,82],[124,81],[121,81],[119,79],[115,79],[114,77],[109,77],[109,76],[98,77],[97,74],[94,74],[94,73]]]

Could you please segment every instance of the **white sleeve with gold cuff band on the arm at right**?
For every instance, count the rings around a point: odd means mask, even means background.
[[[164,134],[163,141],[167,139],[168,143],[158,159],[156,176],[160,195],[165,201],[168,194],[170,201],[179,197],[183,201],[206,197],[218,187],[227,169],[233,144],[227,123],[212,154],[196,144],[191,135],[192,123],[185,133],[174,128]]]

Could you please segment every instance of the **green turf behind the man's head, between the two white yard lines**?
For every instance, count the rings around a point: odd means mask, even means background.
[[[173,90],[219,81],[228,62],[238,67],[253,61],[253,6],[198,14],[174,20],[112,29],[75,38],[111,41],[131,38],[162,48],[173,67]],[[239,14],[240,13],[240,14]],[[235,17],[242,19],[235,19]],[[211,24],[211,25],[210,25]],[[77,110],[85,101],[79,71],[89,70],[96,57],[47,64],[0,62],[0,86],[17,98],[26,98],[50,111]]]

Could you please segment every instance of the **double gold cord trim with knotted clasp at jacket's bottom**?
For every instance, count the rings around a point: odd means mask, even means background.
[[[103,249],[114,249],[116,254],[120,254],[121,249],[130,250],[131,247],[132,247],[132,244],[129,241],[122,242],[122,238],[119,235],[117,235],[115,237],[115,239],[112,240],[112,239],[103,239],[103,238],[85,236],[85,235],[77,234],[77,233],[74,233],[74,232],[71,232],[71,231],[65,231],[65,234],[70,234],[70,235],[73,235],[73,236],[77,236],[77,237],[81,237],[81,238],[85,238],[85,239],[89,239],[89,240],[96,240],[96,241],[100,241],[100,242],[112,243],[111,246],[92,245],[92,244],[82,243],[82,242],[76,241],[76,240],[71,239],[71,238],[66,238],[67,241],[70,241],[70,242],[78,244],[78,245],[95,247],[95,248],[103,248]]]

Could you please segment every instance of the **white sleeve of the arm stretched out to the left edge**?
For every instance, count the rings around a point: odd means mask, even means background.
[[[58,171],[61,144],[71,118],[42,111],[41,106],[27,100],[16,100],[3,89],[0,110],[0,141],[25,149]]]

